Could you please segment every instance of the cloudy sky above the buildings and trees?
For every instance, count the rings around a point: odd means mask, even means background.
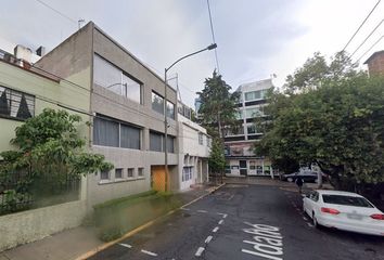
[[[273,83],[280,87],[315,52],[331,57],[341,51],[376,2],[209,0],[219,73],[233,90],[273,74]],[[44,46],[50,51],[74,34],[82,18],[93,21],[163,77],[164,68],[176,60],[213,42],[206,0],[2,0],[1,5],[0,49],[5,50],[23,44],[31,50]],[[346,51],[353,53],[383,18],[384,1]],[[384,23],[353,60],[383,34]],[[380,50],[384,50],[384,39],[360,62]],[[195,92],[204,88],[216,64],[215,52],[206,51],[169,72],[168,78],[178,75],[183,103],[193,107]]]

